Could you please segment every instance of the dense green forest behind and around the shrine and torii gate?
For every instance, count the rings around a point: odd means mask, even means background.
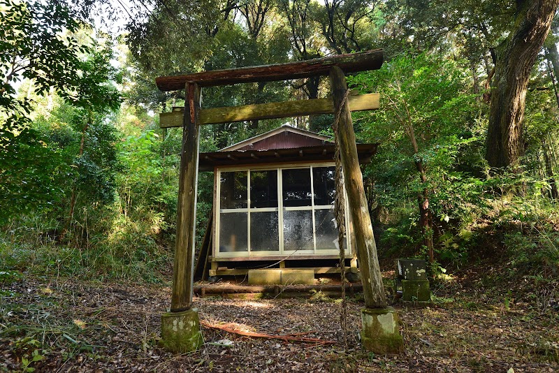
[[[489,258],[504,277],[546,286],[559,271],[556,8],[0,0],[0,270],[169,281],[182,130],[159,129],[157,113],[184,105],[184,92],[159,92],[155,78],[382,48],[379,71],[348,77],[381,94],[380,110],[354,114],[358,140],[380,145],[363,175],[381,261],[432,252],[441,273]],[[535,16],[551,31],[534,31],[525,40],[543,45],[522,51],[516,39]],[[514,88],[524,75],[526,89]],[[319,78],[213,87],[203,106],[326,97],[327,87]],[[519,96],[502,97],[513,88]],[[201,151],[286,122],[331,135],[333,117],[204,126]],[[198,180],[198,237],[212,180]]]

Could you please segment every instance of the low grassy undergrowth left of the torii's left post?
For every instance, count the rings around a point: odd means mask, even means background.
[[[66,229],[44,217],[13,221],[0,231],[0,270],[82,279],[166,280],[163,274],[169,272],[171,251],[157,242],[165,226],[160,212],[124,216],[115,204],[80,214]]]

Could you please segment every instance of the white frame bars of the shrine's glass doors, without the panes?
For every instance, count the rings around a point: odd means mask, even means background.
[[[324,256],[331,256],[340,254],[338,249],[317,249],[317,226],[316,226],[316,218],[314,211],[315,210],[330,210],[333,208],[333,205],[314,205],[314,180],[312,177],[312,169],[317,167],[334,167],[335,163],[333,162],[325,162],[325,163],[299,163],[296,165],[281,165],[281,166],[251,166],[251,167],[223,167],[223,168],[216,168],[216,177],[215,177],[215,257],[216,258],[257,258],[259,256],[317,256],[317,255],[324,255]],[[310,175],[310,183],[311,183],[311,193],[313,198],[311,199],[310,206],[296,206],[296,207],[284,207],[283,205],[283,180],[282,180],[282,170],[291,170],[295,168],[305,168],[309,170]],[[264,170],[275,170],[277,172],[277,207],[250,207],[250,174],[251,171],[264,171]],[[244,208],[235,208],[235,209],[222,209],[221,208],[221,174],[222,172],[238,172],[238,171],[245,171],[247,172],[247,207]],[[345,188],[344,188],[344,195]],[[345,226],[347,227],[346,231],[346,242],[345,242],[345,254],[351,254],[351,229],[350,228],[350,221],[349,221],[349,209],[347,205],[347,196],[344,198],[346,201],[345,203]],[[283,214],[284,211],[311,211],[312,212],[312,250],[284,250],[284,220]],[[221,214],[227,214],[232,212],[245,212],[247,214],[247,251],[228,251],[228,252],[220,252],[219,251],[219,232],[220,232],[220,224],[221,224]],[[274,251],[252,251],[250,247],[250,219],[251,219],[251,212],[277,212],[278,213],[278,247],[279,250]]]

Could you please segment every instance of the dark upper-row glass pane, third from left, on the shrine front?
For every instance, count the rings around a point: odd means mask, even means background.
[[[310,168],[282,170],[282,187],[285,207],[310,206]]]

